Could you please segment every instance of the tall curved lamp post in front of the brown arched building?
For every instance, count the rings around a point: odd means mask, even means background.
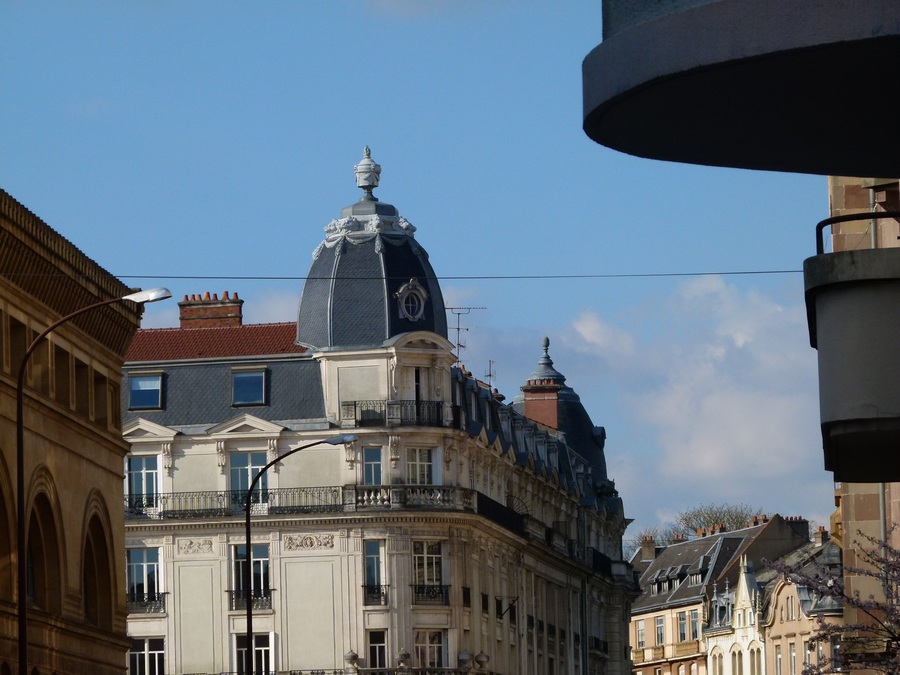
[[[18,595],[18,620],[19,620],[19,674],[28,675],[28,543],[25,541],[25,423],[22,417],[25,408],[25,371],[28,368],[28,360],[37,349],[41,341],[64,323],[71,321],[99,307],[114,305],[117,302],[135,302],[144,304],[171,298],[172,294],[167,288],[151,288],[148,291],[129,293],[118,298],[110,298],[95,302],[81,309],[67,314],[55,323],[51,324],[43,333],[38,335],[25,350],[22,363],[19,365],[19,379],[16,381],[16,542],[17,552],[17,590]]]

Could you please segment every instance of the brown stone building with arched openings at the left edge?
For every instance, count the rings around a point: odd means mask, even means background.
[[[25,509],[16,502],[16,381],[51,324],[130,289],[0,190],[0,672],[120,674],[126,606],[121,366],[140,307],[118,303],[55,330],[25,371]],[[25,541],[17,537],[24,519]],[[25,596],[16,588],[27,552]],[[17,616],[27,603],[27,664]],[[24,666],[24,667],[23,667]]]

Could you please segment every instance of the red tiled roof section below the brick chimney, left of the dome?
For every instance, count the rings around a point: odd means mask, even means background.
[[[218,328],[139,330],[125,362],[209,359],[228,356],[302,354],[296,323],[260,323]]]

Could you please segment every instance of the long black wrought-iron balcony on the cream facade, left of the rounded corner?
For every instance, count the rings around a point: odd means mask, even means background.
[[[225,518],[242,516],[247,493],[169,492],[125,497],[125,520],[167,520],[179,518]],[[279,488],[260,490],[253,495],[253,515],[322,513],[343,509],[340,487]]]

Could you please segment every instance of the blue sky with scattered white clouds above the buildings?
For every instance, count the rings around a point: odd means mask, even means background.
[[[369,145],[376,196],[416,226],[447,304],[486,308],[463,317],[463,362],[495,362],[512,398],[549,336],[607,429],[635,530],[698,502],[827,524],[797,272],[826,180],[590,141],[581,61],[599,0],[0,0],[0,14],[0,186],[127,283],[238,292],[247,321],[294,320]],[[709,272],[729,274],[596,278]],[[594,278],[497,278],[555,275]],[[145,326],[175,324],[175,302],[148,307]]]

